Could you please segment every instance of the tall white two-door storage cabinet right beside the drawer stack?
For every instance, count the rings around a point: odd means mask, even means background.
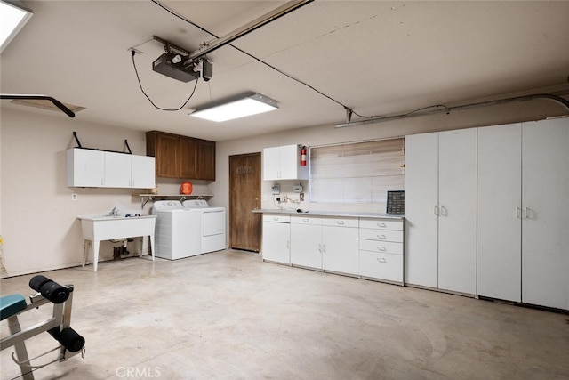
[[[406,280],[477,292],[477,130],[405,137]]]

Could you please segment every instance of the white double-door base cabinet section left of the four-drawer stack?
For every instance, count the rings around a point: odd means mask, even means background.
[[[358,219],[291,216],[291,264],[358,275]]]

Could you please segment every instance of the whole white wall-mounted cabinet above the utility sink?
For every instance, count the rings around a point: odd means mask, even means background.
[[[156,186],[155,158],[103,150],[66,151],[67,185],[150,189]]]

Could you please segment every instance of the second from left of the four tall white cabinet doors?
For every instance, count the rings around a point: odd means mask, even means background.
[[[477,291],[477,130],[438,134],[438,287]]]

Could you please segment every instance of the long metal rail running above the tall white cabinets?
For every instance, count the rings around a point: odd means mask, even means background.
[[[377,123],[383,123],[386,121],[399,120],[399,119],[404,119],[404,118],[409,118],[409,117],[420,117],[420,116],[427,116],[427,115],[435,115],[435,114],[439,114],[439,113],[448,114],[453,110],[477,109],[479,107],[494,106],[494,105],[498,105],[498,104],[511,103],[514,101],[532,101],[534,99],[547,99],[549,101],[556,101],[557,103],[565,106],[565,108],[567,110],[569,110],[569,101],[562,98],[561,96],[555,95],[555,94],[549,94],[549,93],[535,93],[532,95],[524,95],[524,96],[516,96],[514,98],[500,99],[497,101],[481,101],[478,103],[464,104],[461,106],[453,106],[453,107],[433,106],[433,108],[436,107],[436,109],[431,109],[429,111],[422,111],[422,112],[421,111],[412,111],[412,112],[408,112],[406,114],[394,115],[394,116],[388,116],[388,117],[370,117],[370,118],[366,118],[366,119],[360,120],[360,121],[349,121],[349,119],[348,119],[347,123],[339,124],[339,125],[335,125],[335,126],[336,126],[336,128],[343,128],[346,126],[377,124]]]

